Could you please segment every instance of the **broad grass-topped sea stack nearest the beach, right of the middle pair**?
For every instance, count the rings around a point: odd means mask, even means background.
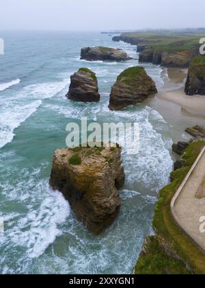
[[[122,110],[156,94],[154,81],[143,67],[131,67],[122,72],[111,89],[109,108]]]

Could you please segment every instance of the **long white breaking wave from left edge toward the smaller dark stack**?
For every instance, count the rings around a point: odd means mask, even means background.
[[[33,115],[43,99],[54,97],[68,85],[68,80],[33,84],[26,86],[17,94],[0,98],[0,148],[14,138],[14,130]]]

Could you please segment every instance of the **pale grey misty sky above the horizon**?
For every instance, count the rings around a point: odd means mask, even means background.
[[[204,27],[204,0],[1,0],[0,29]]]

